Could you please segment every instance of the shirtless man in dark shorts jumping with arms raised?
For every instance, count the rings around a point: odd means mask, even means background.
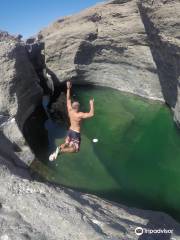
[[[79,112],[79,102],[71,102],[70,89],[72,84],[67,82],[67,111],[70,119],[70,128],[65,139],[65,143],[57,147],[56,152],[49,157],[50,161],[57,158],[59,152],[61,153],[77,153],[80,150],[81,144],[81,122],[83,119],[91,118],[94,116],[94,99],[89,101],[90,111],[87,113]]]

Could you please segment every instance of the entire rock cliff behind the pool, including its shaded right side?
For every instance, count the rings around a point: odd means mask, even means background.
[[[165,101],[179,113],[178,0],[115,0],[41,31],[58,81],[94,83]]]

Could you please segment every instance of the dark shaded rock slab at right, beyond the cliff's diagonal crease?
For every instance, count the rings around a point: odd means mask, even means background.
[[[139,0],[142,21],[166,103],[180,122],[180,2]]]

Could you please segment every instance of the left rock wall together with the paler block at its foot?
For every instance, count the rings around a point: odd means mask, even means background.
[[[41,101],[38,81],[24,44],[0,32],[0,151],[18,164],[34,159],[21,130]]]

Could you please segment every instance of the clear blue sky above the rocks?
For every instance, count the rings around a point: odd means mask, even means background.
[[[60,17],[100,0],[0,0],[0,30],[28,38]]]

